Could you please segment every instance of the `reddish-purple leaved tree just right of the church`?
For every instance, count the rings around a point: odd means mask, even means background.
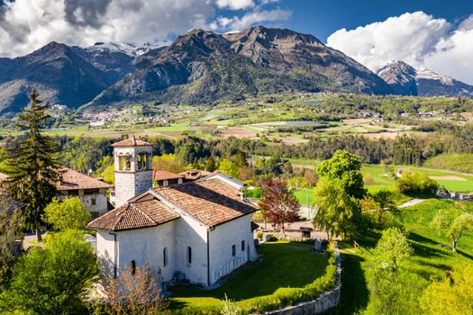
[[[299,218],[301,204],[280,178],[269,179],[263,184],[262,190],[263,193],[258,202],[259,208],[261,208],[265,220],[269,220],[276,227],[281,228],[285,237],[285,224]]]

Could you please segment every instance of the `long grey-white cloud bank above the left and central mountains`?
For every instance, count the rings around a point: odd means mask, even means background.
[[[96,41],[168,42],[202,28],[229,31],[286,20],[265,10],[277,0],[0,0],[0,57],[16,57],[50,41],[88,46]],[[221,16],[219,9],[241,12]],[[218,15],[218,16],[217,16]],[[233,15],[230,13],[230,15]]]

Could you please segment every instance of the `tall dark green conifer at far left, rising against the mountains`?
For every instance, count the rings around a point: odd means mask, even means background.
[[[46,113],[49,103],[41,104],[38,96],[33,90],[30,106],[18,116],[16,127],[26,132],[16,139],[12,148],[7,148],[5,188],[11,197],[25,204],[26,227],[35,230],[40,241],[41,216],[57,193],[55,184],[59,182],[61,173],[57,144],[41,134],[42,124],[50,118]]]

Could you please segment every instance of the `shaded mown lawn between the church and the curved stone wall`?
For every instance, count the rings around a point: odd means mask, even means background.
[[[172,292],[171,310],[183,312],[199,307],[219,308],[225,293],[233,301],[269,295],[284,288],[301,288],[324,275],[329,254],[311,252],[312,243],[277,241],[257,247],[259,261],[242,266],[223,279],[223,285],[204,290],[177,285]]]

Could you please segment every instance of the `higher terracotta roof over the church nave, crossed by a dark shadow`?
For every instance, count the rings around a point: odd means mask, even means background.
[[[257,210],[241,200],[239,189],[219,178],[156,187],[152,191],[209,227]]]

